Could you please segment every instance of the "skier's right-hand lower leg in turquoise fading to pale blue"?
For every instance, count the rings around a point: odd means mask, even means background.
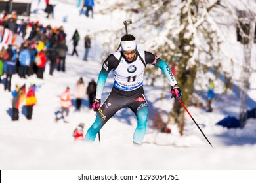
[[[142,141],[146,134],[146,125],[148,121],[148,106],[146,105],[146,103],[142,103],[142,105],[144,106],[140,107],[139,110],[137,110],[136,112],[138,123],[133,134],[133,142],[137,144],[142,144]]]

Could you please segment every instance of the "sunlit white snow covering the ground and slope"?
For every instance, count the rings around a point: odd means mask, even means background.
[[[37,1],[32,1],[32,8],[37,7]],[[117,29],[123,26],[124,14],[120,16],[98,14],[100,4],[95,5],[94,18],[79,16],[79,9],[75,3],[56,4],[54,19],[47,20],[43,11],[32,14],[33,20],[39,20],[44,25],[63,25],[68,33],[69,52],[72,50],[70,39],[75,29],[81,38],[87,30],[91,34],[104,29]],[[44,8],[42,1],[39,7]],[[68,22],[62,22],[68,16]],[[136,22],[133,22],[136,24]],[[123,27],[124,29],[124,27]],[[143,30],[141,30],[143,31]],[[120,33],[121,36],[121,33]],[[3,90],[0,85],[0,169],[9,170],[255,170],[256,169],[256,120],[247,120],[243,129],[226,129],[215,125],[226,116],[239,114],[239,97],[236,93],[228,92],[222,95],[219,90],[213,101],[213,112],[196,107],[188,110],[196,120],[203,133],[207,136],[213,148],[205,141],[198,127],[190,116],[186,115],[184,135],[179,135],[177,125],[170,124],[172,133],[156,133],[148,127],[143,146],[133,146],[133,131],[137,120],[130,110],[121,110],[111,118],[100,131],[101,143],[98,138],[93,144],[74,142],[72,133],[81,122],[85,123],[85,133],[95,120],[95,114],[89,110],[88,99],[83,100],[81,112],[70,109],[69,123],[54,122],[54,112],[60,107],[59,95],[69,86],[71,93],[80,76],[85,83],[92,78],[97,80],[101,68],[102,48],[100,41],[108,37],[93,37],[93,48],[89,54],[89,61],[82,60],[83,41],[79,41],[79,57],[68,55],[66,58],[66,73],[54,71],[49,75],[49,65],[45,71],[44,80],[32,76],[28,79],[12,78],[12,90],[16,83],[37,84],[37,105],[33,108],[32,120],[26,120],[20,108],[20,119],[12,122],[11,93]],[[139,37],[137,38],[139,39]],[[119,40],[113,42],[118,44]],[[143,46],[143,45],[141,45]],[[113,50],[114,51],[114,50]],[[150,50],[149,50],[150,51]],[[104,56],[106,57],[106,56]],[[251,80],[255,86],[255,79]],[[113,75],[108,76],[102,100],[106,99],[112,88]],[[179,83],[179,81],[178,81]],[[169,86],[165,85],[162,92],[162,80],[156,86],[144,86],[145,94],[150,106],[150,112],[161,112],[164,121],[172,108],[173,100],[169,96]],[[217,86],[217,84],[215,84]],[[218,86],[217,86],[218,88]],[[181,86],[182,89],[182,86]],[[163,93],[163,100],[160,95]],[[255,107],[255,90],[249,91],[252,104]],[[75,105],[74,96],[72,103]],[[205,101],[203,101],[205,103]],[[253,106],[254,105],[254,106]],[[149,119],[149,124],[152,120]]]

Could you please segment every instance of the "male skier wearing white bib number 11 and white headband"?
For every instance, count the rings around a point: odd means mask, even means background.
[[[146,133],[148,103],[144,96],[143,75],[147,64],[159,67],[171,84],[171,94],[181,98],[181,90],[165,61],[144,50],[137,50],[136,39],[127,34],[121,38],[121,51],[110,54],[104,61],[98,76],[93,110],[97,111],[93,125],[85,135],[85,141],[95,141],[96,134],[104,124],[121,108],[130,108],[137,116],[137,127],[133,134],[133,144],[141,145]],[[110,95],[100,107],[100,99],[108,73],[114,71],[114,86]]]

